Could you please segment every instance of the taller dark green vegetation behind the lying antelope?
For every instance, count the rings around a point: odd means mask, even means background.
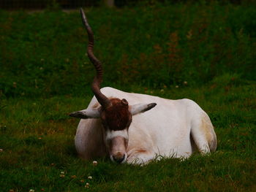
[[[151,3],[89,8],[103,85],[200,86],[223,74],[255,80],[256,9],[250,4]],[[78,12],[0,11],[1,96],[85,93],[94,76]]]

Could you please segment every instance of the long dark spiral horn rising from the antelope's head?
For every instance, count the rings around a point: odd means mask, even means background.
[[[91,30],[91,27],[89,26],[89,23],[86,19],[86,15],[83,12],[83,9],[80,8],[80,14],[82,16],[83,24],[86,26],[86,31],[88,34],[89,43],[87,46],[87,54],[92,64],[94,64],[94,67],[96,69],[97,75],[94,77],[94,81],[91,84],[91,90],[94,92],[94,95],[96,96],[97,100],[99,101],[99,104],[102,105],[102,107],[107,108],[110,106],[110,100],[108,97],[106,97],[102,92],[100,91],[100,83],[102,82],[103,77],[103,70],[102,70],[102,64],[94,55],[94,33]]]

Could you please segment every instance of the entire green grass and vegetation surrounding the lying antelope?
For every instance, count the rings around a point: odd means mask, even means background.
[[[80,15],[0,11],[0,191],[255,191],[255,7],[151,4],[87,15],[104,85],[196,101],[217,152],[147,166],[81,160],[79,120],[67,115],[92,96]]]

